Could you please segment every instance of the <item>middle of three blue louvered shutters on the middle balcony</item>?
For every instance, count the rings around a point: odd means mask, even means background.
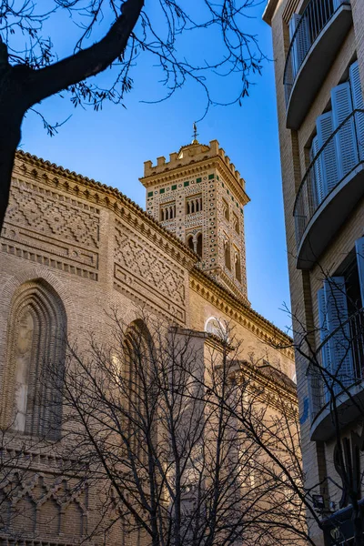
[[[331,89],[331,105],[333,128],[335,130],[353,110],[349,82]],[[353,116],[349,117],[347,122],[339,128],[335,139],[339,152],[339,180],[341,180],[358,164],[358,149]]]

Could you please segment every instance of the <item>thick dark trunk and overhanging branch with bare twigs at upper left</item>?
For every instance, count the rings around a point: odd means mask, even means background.
[[[74,106],[96,110],[109,100],[123,104],[133,86],[132,69],[139,56],[155,57],[162,71],[165,95],[171,96],[188,79],[202,86],[207,107],[210,96],[206,76],[233,78],[237,102],[248,94],[252,72],[260,71],[263,55],[257,37],[245,32],[247,15],[256,0],[205,0],[186,8],[175,0],[2,0],[0,3],[0,229],[8,202],[15,149],[25,112],[48,96],[67,92]],[[68,18],[66,19],[66,15]],[[70,56],[58,60],[48,25],[62,21],[64,35],[78,29]],[[101,37],[100,39],[100,35]],[[188,58],[183,40],[204,39],[201,56]],[[211,57],[210,44],[220,46]],[[98,85],[96,76],[111,71]],[[238,81],[238,84],[236,83]],[[39,110],[35,110],[42,116]],[[42,116],[45,127],[52,126]]]

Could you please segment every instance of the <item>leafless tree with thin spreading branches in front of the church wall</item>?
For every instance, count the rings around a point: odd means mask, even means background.
[[[294,389],[238,361],[231,335],[114,319],[113,342],[69,346],[63,375],[59,449],[103,500],[90,532],[154,546],[314,545]]]

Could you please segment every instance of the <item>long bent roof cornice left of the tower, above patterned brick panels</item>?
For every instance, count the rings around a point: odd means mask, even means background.
[[[38,173],[36,169],[41,169],[43,173]],[[187,245],[115,187],[106,186],[21,150],[16,152],[13,177],[24,177],[25,181],[30,177],[33,183],[45,184],[70,196],[86,199],[97,207],[112,210],[116,217],[126,220],[130,226],[164,248],[171,258],[177,259],[187,269],[193,268],[198,261],[197,255]]]

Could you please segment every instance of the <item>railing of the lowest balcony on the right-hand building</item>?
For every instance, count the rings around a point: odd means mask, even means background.
[[[329,364],[329,366],[328,366]],[[364,308],[352,314],[321,343],[317,365],[308,371],[311,421],[332,396],[364,379]]]

